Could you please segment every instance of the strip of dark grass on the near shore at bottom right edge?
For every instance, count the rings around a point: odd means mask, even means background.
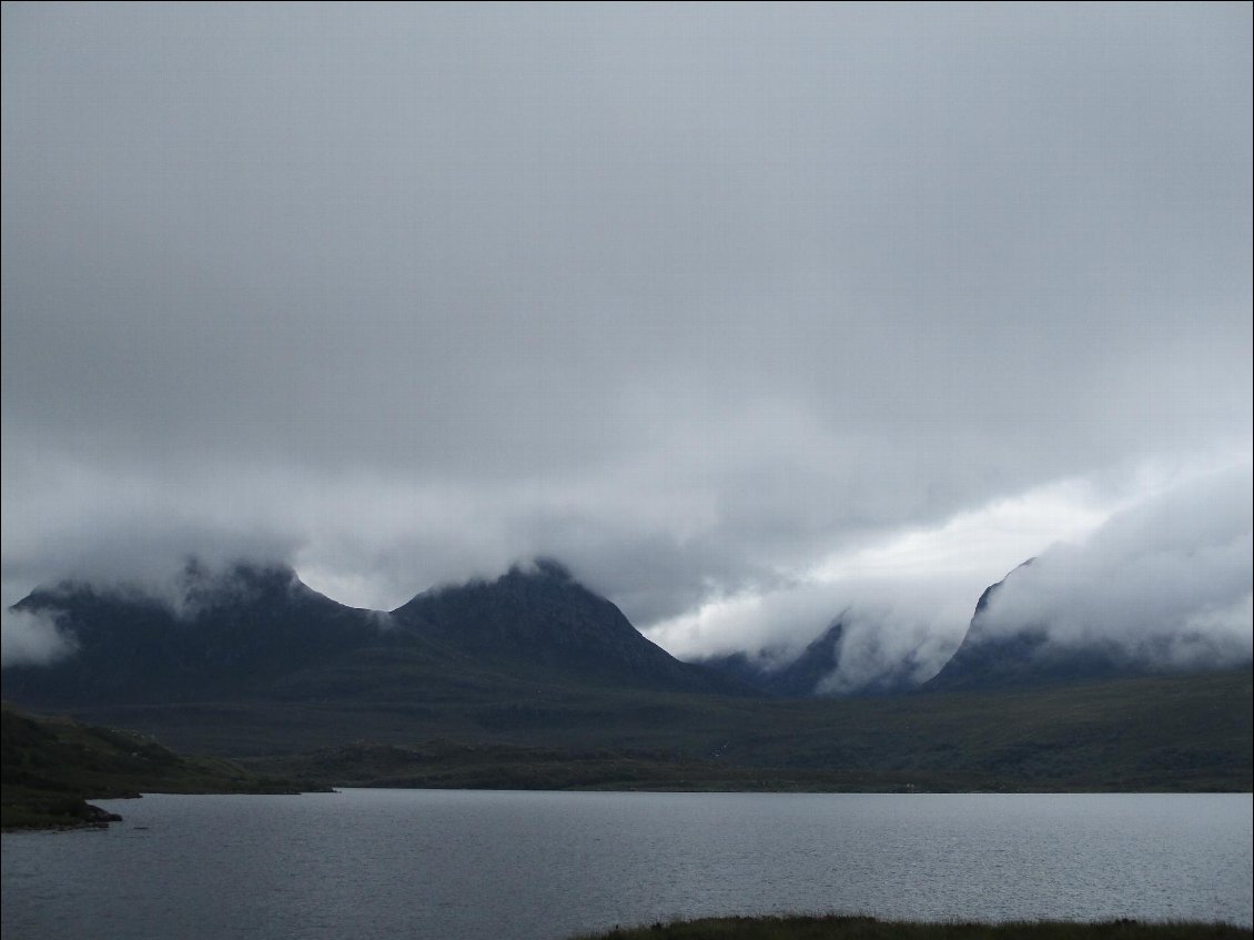
[[[1254,936],[1231,924],[1146,924],[1114,920],[962,924],[877,920],[849,915],[706,917],[614,929],[572,940],[1241,940]]]

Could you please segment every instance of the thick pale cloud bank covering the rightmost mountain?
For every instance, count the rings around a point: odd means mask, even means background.
[[[1249,467],[1190,481],[1043,551],[992,595],[981,633],[1043,630],[1055,645],[1112,647],[1161,668],[1248,662],[1250,489]]]

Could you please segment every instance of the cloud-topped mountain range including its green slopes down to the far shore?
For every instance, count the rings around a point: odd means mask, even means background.
[[[831,698],[840,619],[769,671],[676,659],[554,561],[386,613],[286,565],[191,564],[164,594],[33,592],[15,609],[74,652],[5,667],[4,697],[329,786],[1249,788],[1248,667],[1033,673],[984,635],[997,590],[922,694]]]

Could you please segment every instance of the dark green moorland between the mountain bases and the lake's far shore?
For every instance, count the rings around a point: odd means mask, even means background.
[[[1240,791],[1251,673],[1042,689],[746,699],[484,677],[414,701],[84,709],[179,749],[331,786],[760,791]],[[415,684],[423,683],[414,676]],[[434,684],[434,682],[433,682]]]

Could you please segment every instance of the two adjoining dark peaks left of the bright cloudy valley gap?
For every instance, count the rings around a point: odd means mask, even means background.
[[[311,590],[283,565],[188,565],[177,607],[134,589],[63,583],[15,609],[55,618],[75,652],[4,669],[4,692],[58,709],[196,702],[533,698],[554,686],[742,693],[681,663],[554,563],[428,592],[393,614]]]

